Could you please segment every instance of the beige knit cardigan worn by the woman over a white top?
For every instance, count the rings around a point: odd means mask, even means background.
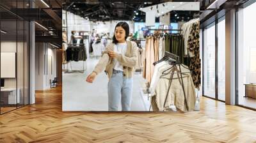
[[[116,60],[124,66],[124,77],[131,78],[134,73],[134,66],[136,66],[138,59],[138,47],[134,41],[126,41],[127,50],[125,55],[118,54]],[[109,58],[107,50],[114,50],[114,43],[109,43],[106,50],[103,52],[99,63],[95,66],[93,72],[97,74],[105,70],[108,73],[108,78],[112,77],[115,61],[113,58]]]

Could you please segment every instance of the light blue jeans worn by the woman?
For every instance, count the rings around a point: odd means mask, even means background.
[[[108,82],[108,110],[118,111],[121,102],[122,111],[131,110],[133,79],[125,78],[122,71],[113,70]]]

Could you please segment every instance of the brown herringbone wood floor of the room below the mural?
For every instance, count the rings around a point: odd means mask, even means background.
[[[201,98],[199,112],[62,112],[61,88],[0,116],[0,142],[256,142],[256,112]]]

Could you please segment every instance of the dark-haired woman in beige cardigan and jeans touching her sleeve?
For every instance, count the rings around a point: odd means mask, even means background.
[[[122,110],[131,110],[134,66],[137,62],[138,47],[133,41],[126,41],[129,25],[119,22],[115,27],[113,43],[106,47],[99,63],[88,75],[86,81],[92,83],[104,69],[108,73],[108,109],[117,111],[121,102]]]

